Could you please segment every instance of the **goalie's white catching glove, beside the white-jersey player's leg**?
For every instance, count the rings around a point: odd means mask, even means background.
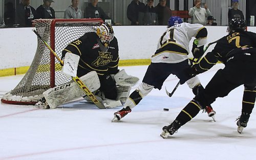
[[[119,86],[135,86],[139,81],[138,77],[128,75],[124,69],[114,75],[116,84]]]

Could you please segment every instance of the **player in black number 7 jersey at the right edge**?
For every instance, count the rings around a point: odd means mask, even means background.
[[[247,126],[256,97],[256,34],[245,31],[245,21],[233,18],[229,22],[229,34],[218,40],[215,48],[191,69],[192,74],[205,72],[218,61],[225,64],[210,82],[185,108],[175,121],[163,127],[161,137],[173,135],[182,125],[194,118],[205,106],[218,97],[225,97],[233,89],[244,85],[242,114],[237,119],[238,132]]]

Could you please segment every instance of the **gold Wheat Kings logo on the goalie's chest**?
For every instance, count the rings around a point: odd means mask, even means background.
[[[113,59],[113,56],[110,54],[111,52],[99,51],[99,57],[95,61],[93,61],[92,65],[95,67],[99,67],[109,64]]]

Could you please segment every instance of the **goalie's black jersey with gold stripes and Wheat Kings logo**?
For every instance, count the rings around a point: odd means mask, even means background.
[[[96,71],[98,75],[118,72],[119,55],[116,37],[110,42],[106,52],[100,50],[98,39],[95,32],[89,32],[63,49],[62,58],[67,52],[80,56],[77,76],[82,76],[90,71]]]

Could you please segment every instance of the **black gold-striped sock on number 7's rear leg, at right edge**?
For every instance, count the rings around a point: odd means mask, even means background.
[[[242,101],[242,112],[251,114],[252,109],[254,107],[256,98],[256,89],[248,89],[245,88],[244,95],[243,95],[243,101]]]

